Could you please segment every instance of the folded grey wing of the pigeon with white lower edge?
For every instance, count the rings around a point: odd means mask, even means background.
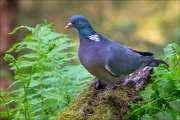
[[[142,62],[141,55],[114,42],[106,47],[105,69],[114,76],[130,74]]]

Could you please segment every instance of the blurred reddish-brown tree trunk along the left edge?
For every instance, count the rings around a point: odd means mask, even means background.
[[[0,88],[10,84],[9,65],[3,60],[5,52],[16,42],[16,35],[9,35],[17,25],[18,0],[0,0]],[[7,74],[7,75],[6,75]]]

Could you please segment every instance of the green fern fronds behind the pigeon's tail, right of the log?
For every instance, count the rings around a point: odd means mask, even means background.
[[[164,48],[161,58],[170,67],[160,65],[154,68],[151,83],[141,92],[144,102],[131,103],[131,112],[124,119],[180,119],[180,110],[176,108],[180,101],[180,47],[173,43]],[[163,115],[163,116],[162,116]]]

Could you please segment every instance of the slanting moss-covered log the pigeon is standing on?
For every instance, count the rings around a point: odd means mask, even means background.
[[[117,88],[96,90],[89,85],[57,116],[57,120],[121,120],[130,101],[142,101],[139,92],[150,80],[152,67],[128,75]]]

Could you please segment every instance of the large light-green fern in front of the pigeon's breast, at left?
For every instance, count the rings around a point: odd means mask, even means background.
[[[56,33],[53,24],[20,26],[12,33],[21,28],[31,33],[15,43],[4,57],[15,75],[9,86],[15,107],[9,109],[10,100],[6,99],[10,97],[5,92],[0,103],[6,106],[11,119],[53,119],[90,81],[90,74],[75,62],[72,64],[77,58],[73,50],[77,43]],[[11,52],[20,55],[14,58]]]

